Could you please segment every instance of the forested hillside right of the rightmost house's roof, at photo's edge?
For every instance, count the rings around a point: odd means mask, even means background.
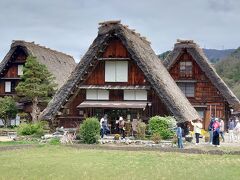
[[[216,63],[218,74],[240,99],[240,48],[224,60]]]

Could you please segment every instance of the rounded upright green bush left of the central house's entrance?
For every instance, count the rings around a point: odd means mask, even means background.
[[[83,143],[94,144],[100,137],[100,124],[97,118],[87,118],[80,126],[80,137]]]

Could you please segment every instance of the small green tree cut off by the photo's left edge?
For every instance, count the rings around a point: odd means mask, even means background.
[[[15,118],[17,114],[16,102],[10,96],[0,98],[0,118],[5,127],[10,124],[10,119]]]

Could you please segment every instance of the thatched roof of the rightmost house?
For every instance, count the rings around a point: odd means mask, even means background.
[[[229,105],[234,109],[238,109],[240,107],[240,101],[220,78],[214,67],[209,63],[203,50],[192,40],[178,41],[175,44],[173,51],[164,60],[163,64],[165,67],[169,70],[175,64],[178,57],[184,53],[184,51],[187,51],[193,57],[193,59],[214,84],[214,86],[220,91]]]

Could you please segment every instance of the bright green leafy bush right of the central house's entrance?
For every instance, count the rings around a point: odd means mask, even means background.
[[[149,130],[151,134],[158,133],[163,139],[169,139],[174,135],[171,130],[168,117],[154,116],[149,120]]]

